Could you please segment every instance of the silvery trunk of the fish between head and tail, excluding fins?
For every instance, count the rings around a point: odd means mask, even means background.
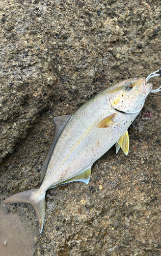
[[[71,116],[62,132],[53,150],[42,186],[45,189],[57,186],[91,168],[125,133],[138,114],[124,115],[110,109],[105,95],[99,95],[92,102],[83,105]],[[112,115],[112,125],[97,127],[103,119]]]

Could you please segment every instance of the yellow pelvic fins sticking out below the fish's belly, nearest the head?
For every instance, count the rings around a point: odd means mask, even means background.
[[[116,154],[118,153],[120,147],[122,148],[123,152],[127,156],[129,150],[129,137],[128,132],[126,131],[120,139],[116,142]]]

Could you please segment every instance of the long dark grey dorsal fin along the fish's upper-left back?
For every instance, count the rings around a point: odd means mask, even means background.
[[[56,145],[56,143],[57,143],[57,141],[59,139],[59,136],[63,132],[64,127],[66,126],[66,124],[69,121],[70,117],[71,117],[71,115],[65,115],[65,116],[58,116],[58,117],[53,118],[53,122],[55,124],[55,133],[54,133],[54,136],[53,136],[53,140],[52,140],[51,146],[49,148],[48,155],[47,155],[47,157],[46,157],[46,159],[44,161],[44,164],[43,164],[43,166],[41,168],[41,181],[43,180],[43,178],[45,176],[46,169],[47,169],[48,162],[50,160],[53,148],[55,147],[55,145]]]

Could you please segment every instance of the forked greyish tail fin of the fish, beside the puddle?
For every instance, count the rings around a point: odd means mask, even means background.
[[[12,202],[26,202],[34,206],[41,233],[45,220],[45,192],[42,194],[39,189],[30,189],[12,195],[3,201],[3,203]]]

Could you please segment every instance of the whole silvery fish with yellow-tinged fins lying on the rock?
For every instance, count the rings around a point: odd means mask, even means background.
[[[3,203],[31,203],[40,233],[45,220],[45,193],[61,184],[89,183],[91,167],[115,144],[129,151],[128,127],[138,116],[152,89],[145,78],[121,81],[95,95],[72,115],[53,118],[55,135],[41,169],[39,188],[14,194]]]

